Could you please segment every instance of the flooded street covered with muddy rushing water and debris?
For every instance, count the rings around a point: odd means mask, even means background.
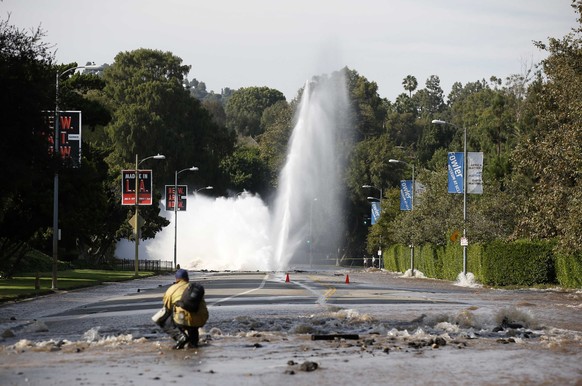
[[[191,278],[211,315],[198,349],[172,350],[151,322],[172,276],[2,305],[0,384],[582,384],[581,291],[356,270]]]

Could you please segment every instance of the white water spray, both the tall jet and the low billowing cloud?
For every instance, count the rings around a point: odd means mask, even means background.
[[[343,162],[337,152],[348,127],[342,73],[305,85],[287,160],[273,207],[248,193],[210,199],[188,197],[178,213],[177,262],[208,270],[285,270],[335,259],[341,226]],[[140,243],[140,258],[173,261],[174,213],[155,239]],[[134,245],[119,243],[117,256],[131,259]]]

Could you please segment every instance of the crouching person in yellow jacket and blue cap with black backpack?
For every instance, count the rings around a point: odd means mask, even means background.
[[[198,347],[198,328],[206,324],[208,308],[204,287],[190,283],[185,269],[176,271],[176,282],[164,294],[164,308],[172,311],[172,322],[162,328],[176,341],[174,348]]]

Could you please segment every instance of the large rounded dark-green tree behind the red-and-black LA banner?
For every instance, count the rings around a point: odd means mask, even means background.
[[[108,157],[112,178],[120,169],[133,168],[135,157],[157,153],[166,160],[155,164],[154,189],[159,192],[174,172],[197,166],[196,181],[212,184],[218,193],[224,188],[220,161],[232,151],[234,137],[217,126],[200,101],[183,87],[189,66],[170,52],[138,49],[121,52],[104,71],[105,95],[110,101],[113,120],[107,127],[113,152]],[[153,165],[143,165],[149,168]],[[184,176],[184,182],[192,180]],[[114,182],[118,185],[118,182]],[[167,221],[158,216],[157,206],[144,208],[149,221],[145,238],[153,237]],[[130,212],[128,212],[130,216]],[[123,228],[121,236],[130,229]]]

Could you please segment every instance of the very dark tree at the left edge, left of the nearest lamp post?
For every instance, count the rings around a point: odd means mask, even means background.
[[[44,126],[42,111],[54,110],[54,59],[43,38],[41,29],[0,20],[0,272],[6,276],[52,219],[46,192],[53,164],[46,137],[34,133]]]

